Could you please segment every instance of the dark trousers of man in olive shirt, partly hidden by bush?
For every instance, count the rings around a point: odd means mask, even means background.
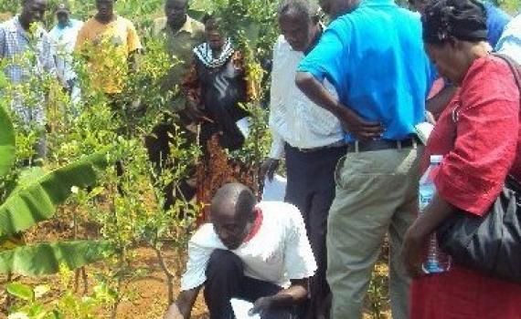
[[[154,127],[151,135],[144,138],[144,144],[148,150],[148,158],[154,164],[154,169],[159,175],[162,174],[163,170],[172,170],[174,167],[173,159],[170,158],[172,136],[175,136],[175,126],[165,120],[164,123],[159,123]],[[186,180],[179,182],[178,190],[174,190],[174,181],[163,187],[165,210],[174,205],[175,193],[180,192],[186,201],[190,201],[196,195],[196,190],[188,185]]]

